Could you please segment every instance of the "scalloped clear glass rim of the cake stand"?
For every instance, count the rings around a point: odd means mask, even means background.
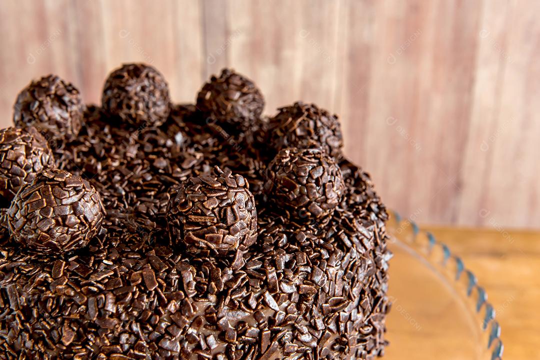
[[[495,319],[494,307],[487,301],[487,293],[478,285],[474,273],[465,267],[462,259],[453,254],[446,244],[437,241],[430,232],[420,230],[414,221],[403,219],[395,211],[389,211],[389,215],[387,229],[390,241],[399,241],[409,247],[425,262],[424,265],[440,275],[460,295],[465,307],[473,315],[485,344],[485,359],[502,360],[504,347],[501,326]]]

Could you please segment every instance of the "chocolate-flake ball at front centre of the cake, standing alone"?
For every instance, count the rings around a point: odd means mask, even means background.
[[[255,242],[257,210],[244,177],[219,168],[214,173],[174,188],[166,214],[173,243],[225,255]]]

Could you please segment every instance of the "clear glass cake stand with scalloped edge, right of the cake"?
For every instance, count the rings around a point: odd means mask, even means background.
[[[500,360],[495,310],[463,261],[395,212],[388,233],[393,305],[383,359]]]

